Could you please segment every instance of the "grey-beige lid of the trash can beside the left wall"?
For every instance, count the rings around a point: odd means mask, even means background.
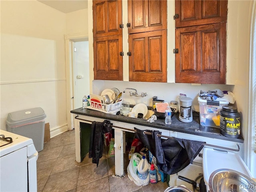
[[[10,127],[44,120],[46,114],[40,107],[8,113],[6,125]]]

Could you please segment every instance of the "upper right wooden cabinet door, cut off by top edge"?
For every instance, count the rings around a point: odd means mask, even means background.
[[[175,0],[175,27],[226,22],[227,0]]]

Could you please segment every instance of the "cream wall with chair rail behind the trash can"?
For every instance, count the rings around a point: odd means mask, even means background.
[[[65,14],[36,0],[0,4],[0,128],[9,112],[42,107],[51,135],[67,130]]]

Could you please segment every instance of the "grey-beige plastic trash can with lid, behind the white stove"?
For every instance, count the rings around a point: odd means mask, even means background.
[[[6,129],[21,136],[31,138],[36,150],[44,148],[44,119],[46,114],[40,107],[8,113]]]

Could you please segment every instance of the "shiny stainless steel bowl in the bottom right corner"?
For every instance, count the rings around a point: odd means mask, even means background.
[[[218,169],[209,178],[211,192],[256,192],[256,183],[248,176],[231,169]]]

